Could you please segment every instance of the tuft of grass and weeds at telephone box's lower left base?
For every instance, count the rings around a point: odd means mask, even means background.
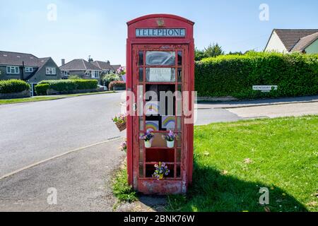
[[[122,167],[118,170],[112,184],[112,192],[119,202],[132,203],[137,201],[137,195],[134,189],[128,184],[127,169]]]

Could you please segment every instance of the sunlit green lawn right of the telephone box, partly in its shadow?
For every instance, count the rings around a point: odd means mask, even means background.
[[[193,186],[168,210],[318,211],[318,116],[196,126],[194,147]]]

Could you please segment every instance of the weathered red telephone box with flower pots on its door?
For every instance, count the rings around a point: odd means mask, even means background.
[[[132,93],[127,95],[129,184],[143,194],[186,193],[193,168],[194,23],[154,14],[127,24],[126,85],[127,93]],[[182,100],[182,95],[167,100],[161,96],[163,92],[190,95],[188,100]],[[173,107],[167,112],[169,103]],[[151,148],[139,138],[146,131],[154,135]],[[168,148],[162,136],[170,131],[177,134],[177,141]],[[170,173],[158,180],[153,172],[159,162],[165,162]]]

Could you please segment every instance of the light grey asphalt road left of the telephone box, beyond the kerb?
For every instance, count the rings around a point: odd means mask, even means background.
[[[69,150],[123,136],[111,118],[122,93],[0,105],[0,177]]]

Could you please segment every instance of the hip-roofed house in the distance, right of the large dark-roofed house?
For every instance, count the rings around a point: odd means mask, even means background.
[[[93,61],[86,61],[85,59],[73,59],[69,63],[65,64],[65,60],[62,59],[62,65],[59,67],[64,78],[69,76],[79,76],[83,79],[96,79],[100,84],[100,76],[102,69],[95,66]]]

